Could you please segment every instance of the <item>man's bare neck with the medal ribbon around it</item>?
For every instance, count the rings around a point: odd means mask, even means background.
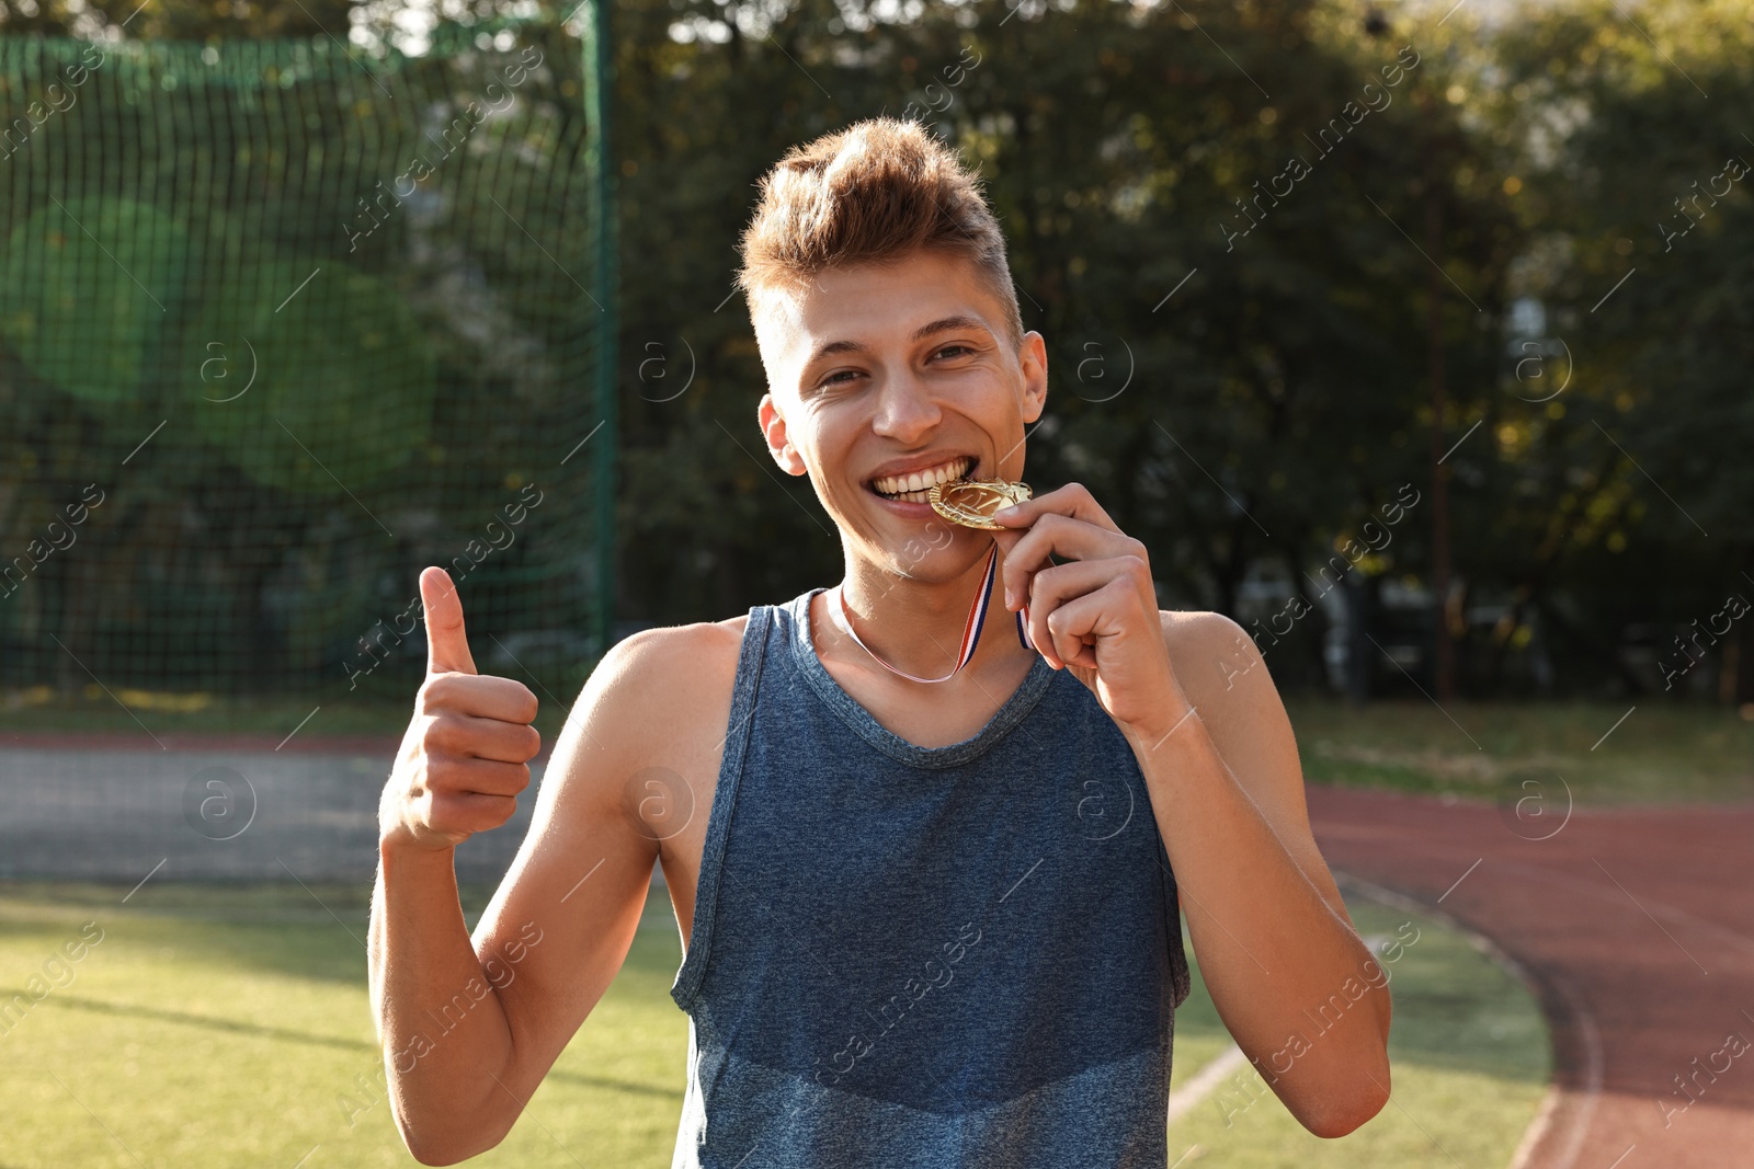
[[[961,652],[968,610],[982,592],[986,564],[988,554],[982,552],[963,573],[952,578],[919,580],[898,577],[865,561],[849,559],[847,575],[842,584],[837,589],[830,589],[823,598],[826,601],[828,624],[833,629],[833,641],[830,645],[819,641],[817,652],[828,652],[849,664],[863,659],[873,673],[888,675],[891,682],[909,687],[914,684],[896,678],[872,661],[872,655],[916,678],[942,678],[949,675],[956,670]],[[963,675],[1007,675],[1019,666],[1026,668],[1028,659],[1035,657],[1035,650],[1024,648],[1019,643],[1016,633],[1017,619],[1005,608],[1005,587],[998,578],[998,571],[1003,566],[1005,557],[1000,556],[986,620],[980,627],[980,640]],[[847,619],[840,612],[842,596],[852,615],[852,627],[858,631],[858,640],[866,648],[859,648],[847,636]]]

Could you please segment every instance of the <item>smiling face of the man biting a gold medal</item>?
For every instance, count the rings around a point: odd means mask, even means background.
[[[1023,478],[1024,426],[1047,400],[1042,335],[1012,351],[973,263],[933,252],[833,268],[770,303],[756,335],[774,461],[809,475],[842,540],[893,571],[954,575],[986,552],[989,536],[942,519],[924,487]]]

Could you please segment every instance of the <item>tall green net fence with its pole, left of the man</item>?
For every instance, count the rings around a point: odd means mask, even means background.
[[[0,40],[0,687],[400,691],[612,613],[598,54]]]

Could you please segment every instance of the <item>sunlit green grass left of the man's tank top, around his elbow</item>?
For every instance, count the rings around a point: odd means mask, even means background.
[[[126,892],[0,889],[0,985],[23,987],[84,922],[103,929],[0,1038],[0,1165],[416,1164],[379,1087],[363,889],[316,889],[346,927],[296,885],[147,885],[121,906]],[[654,901],[523,1120],[472,1164],[670,1164],[688,1057],[677,955]]]

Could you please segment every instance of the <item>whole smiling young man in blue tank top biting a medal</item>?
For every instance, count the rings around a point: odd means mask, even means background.
[[[768,452],[810,477],[845,577],[616,645],[470,939],[453,847],[512,813],[537,701],[475,673],[449,578],[421,575],[428,678],[372,906],[410,1151],[505,1136],[621,967],[654,861],[689,1015],[677,1167],[1161,1169],[1177,906],[1286,1108],[1321,1136],[1365,1123],[1387,980],[1254,645],[1159,610],[1145,547],[1077,484],[996,533],[924,503],[938,478],[1021,480],[1047,398],[972,175],[895,119],[795,149],[742,287]]]

